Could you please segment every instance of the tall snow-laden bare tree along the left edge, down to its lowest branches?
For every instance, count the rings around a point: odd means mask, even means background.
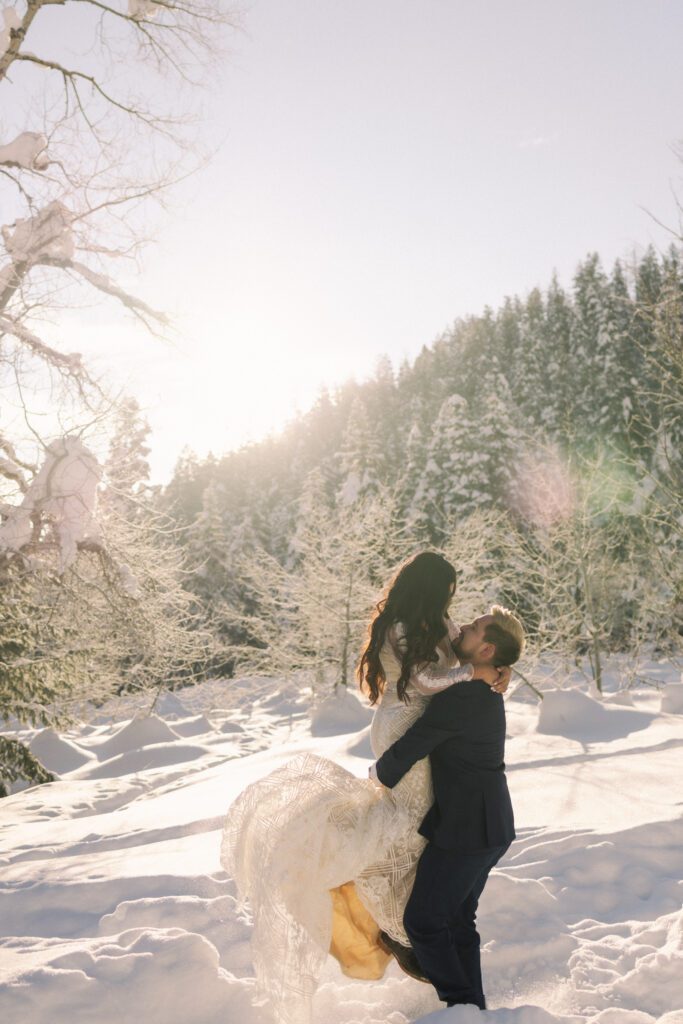
[[[95,300],[170,329],[121,278],[139,268],[155,204],[209,159],[198,100],[238,27],[220,0],[18,0],[0,13],[5,720],[66,721],[86,694],[185,678],[206,649],[166,524],[140,492],[132,504],[102,492],[116,399],[63,322]],[[17,772],[45,780],[4,740],[0,783]]]

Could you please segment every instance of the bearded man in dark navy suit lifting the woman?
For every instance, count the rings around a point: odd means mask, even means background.
[[[486,1007],[476,909],[515,830],[505,777],[505,705],[481,676],[492,666],[513,665],[523,644],[521,623],[500,605],[463,626],[453,648],[461,664],[472,665],[473,678],[436,693],[370,769],[391,788],[429,755],[434,803],[418,829],[428,843],[403,926],[422,971],[450,1007]]]

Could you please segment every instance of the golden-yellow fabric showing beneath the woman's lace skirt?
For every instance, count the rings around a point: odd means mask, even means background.
[[[391,954],[379,944],[380,928],[365,908],[355,886],[346,882],[330,890],[332,896],[332,942],[330,952],[339,961],[347,978],[377,981],[382,978]]]

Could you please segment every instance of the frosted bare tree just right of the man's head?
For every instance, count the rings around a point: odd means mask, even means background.
[[[500,534],[502,593],[525,622],[530,650],[584,658],[602,690],[605,656],[652,638],[671,598],[651,572],[651,538],[634,507],[637,481],[606,452],[561,460],[539,449],[523,469],[518,514]]]

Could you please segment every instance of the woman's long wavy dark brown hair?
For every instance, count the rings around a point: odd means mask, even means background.
[[[402,623],[405,627],[407,646],[396,684],[401,700],[409,701],[405,687],[413,667],[438,659],[436,645],[446,633],[443,612],[455,583],[454,566],[435,551],[421,551],[399,567],[376,606],[368,627],[366,649],[356,670],[360,689],[370,694],[371,705],[377,703],[384,691],[386,676],[380,651],[387,630],[394,623]]]

